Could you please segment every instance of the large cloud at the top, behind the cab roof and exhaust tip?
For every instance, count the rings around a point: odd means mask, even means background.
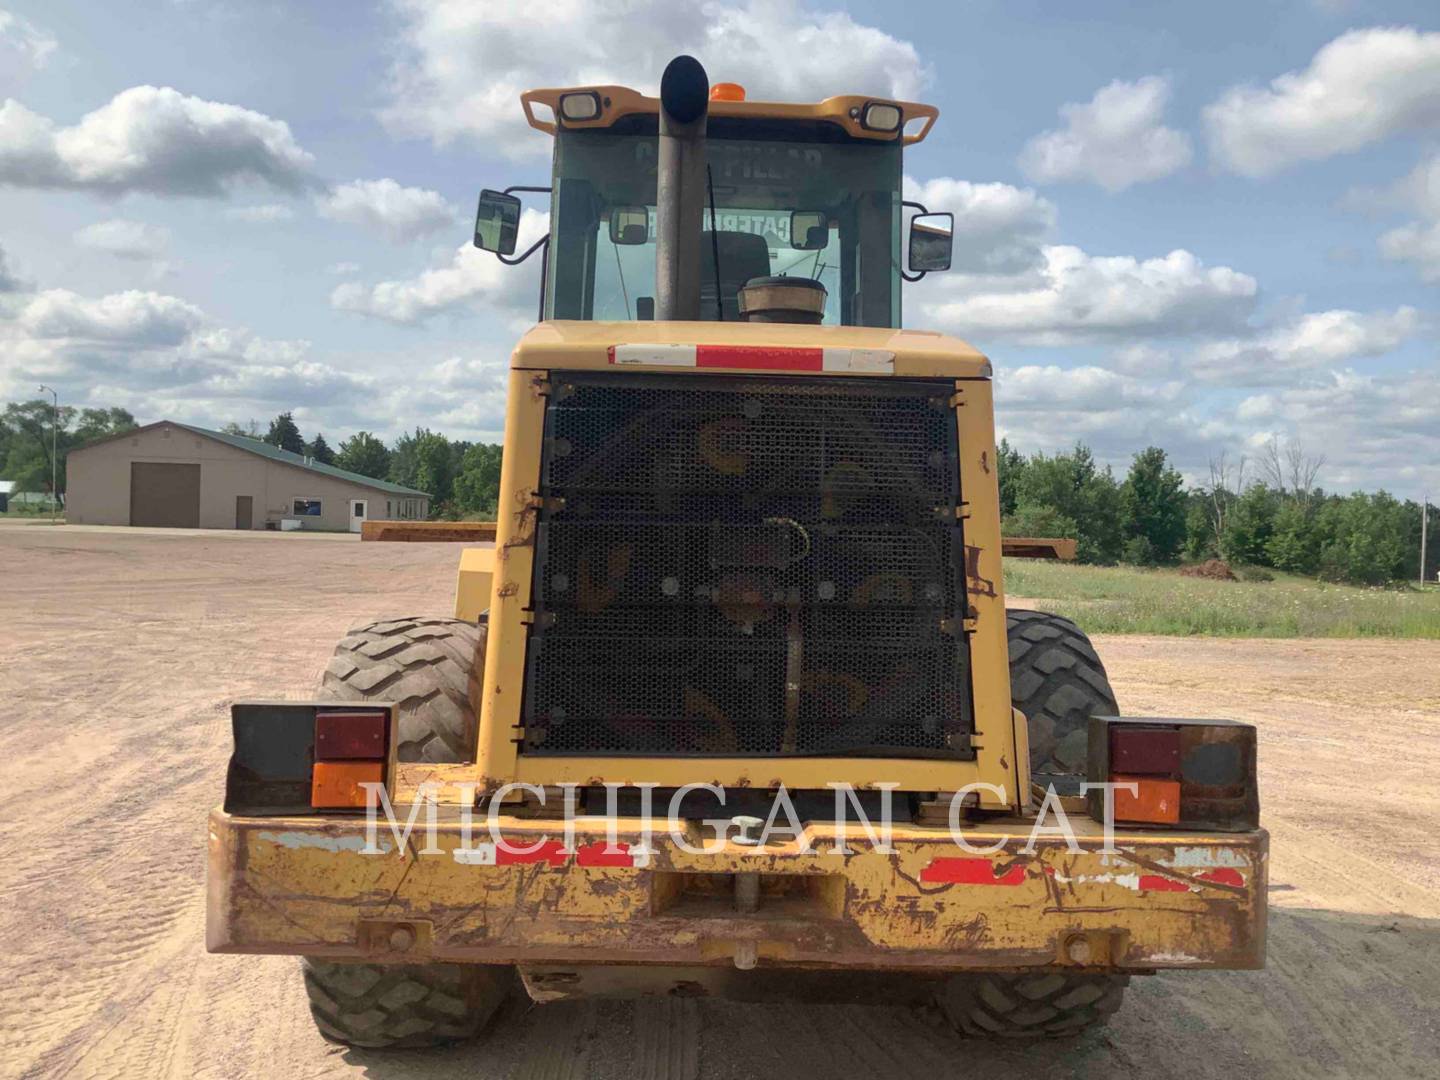
[[[654,92],[678,53],[697,56],[713,82],[740,82],[766,101],[819,101],[838,92],[837,79],[845,92],[914,98],[929,79],[909,42],[796,0],[557,0],[543,17],[520,0],[392,7],[400,50],[386,127],[436,144],[474,138],[511,157],[549,153],[527,134],[523,91],[621,84]]]

